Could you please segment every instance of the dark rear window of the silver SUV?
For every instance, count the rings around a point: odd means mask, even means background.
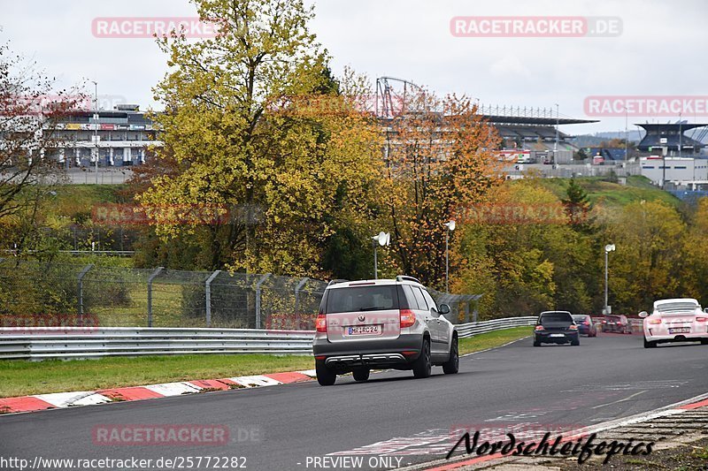
[[[327,314],[398,309],[396,285],[354,286],[327,292]]]

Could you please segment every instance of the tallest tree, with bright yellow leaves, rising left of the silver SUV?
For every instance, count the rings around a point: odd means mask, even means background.
[[[165,105],[155,116],[158,158],[176,171],[150,179],[138,199],[160,209],[151,214],[161,238],[200,236],[204,268],[325,276],[319,261],[333,228],[369,211],[381,158],[375,123],[328,72],[302,0],[194,3],[219,34],[158,40],[172,67],[155,88]],[[192,205],[227,218],[175,224],[173,213]]]

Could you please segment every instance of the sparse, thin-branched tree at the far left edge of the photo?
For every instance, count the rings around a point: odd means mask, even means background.
[[[0,46],[0,240],[3,248],[50,247],[39,223],[42,201],[61,178],[50,155],[58,148],[58,122],[83,103],[77,90],[57,90],[37,65]],[[11,245],[12,244],[12,245]]]

